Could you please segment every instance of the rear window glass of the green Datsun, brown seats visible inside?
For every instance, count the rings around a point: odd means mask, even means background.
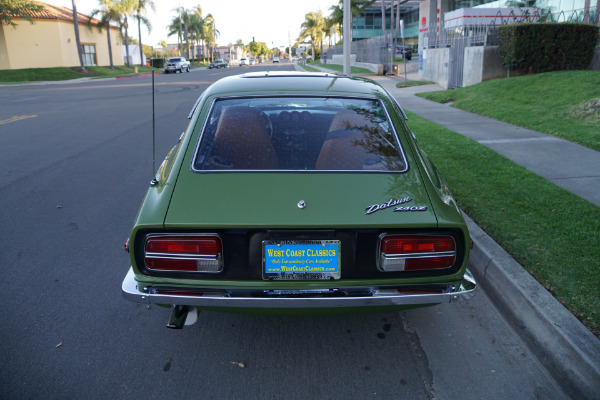
[[[236,98],[214,102],[196,171],[395,171],[406,161],[379,100]]]

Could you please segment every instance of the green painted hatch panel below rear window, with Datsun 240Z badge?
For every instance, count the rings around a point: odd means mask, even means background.
[[[435,228],[415,169],[404,173],[182,171],[166,228]]]

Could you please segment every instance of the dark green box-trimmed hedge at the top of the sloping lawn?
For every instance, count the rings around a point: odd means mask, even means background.
[[[502,65],[526,73],[587,69],[598,27],[580,23],[527,23],[498,29]]]

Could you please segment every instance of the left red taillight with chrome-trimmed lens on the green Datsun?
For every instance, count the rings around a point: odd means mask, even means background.
[[[149,236],[144,246],[146,267],[157,271],[220,272],[221,238],[216,235]]]

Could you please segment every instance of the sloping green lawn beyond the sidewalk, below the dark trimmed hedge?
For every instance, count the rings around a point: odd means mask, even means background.
[[[600,71],[494,79],[419,94],[453,107],[548,133],[600,151]]]

